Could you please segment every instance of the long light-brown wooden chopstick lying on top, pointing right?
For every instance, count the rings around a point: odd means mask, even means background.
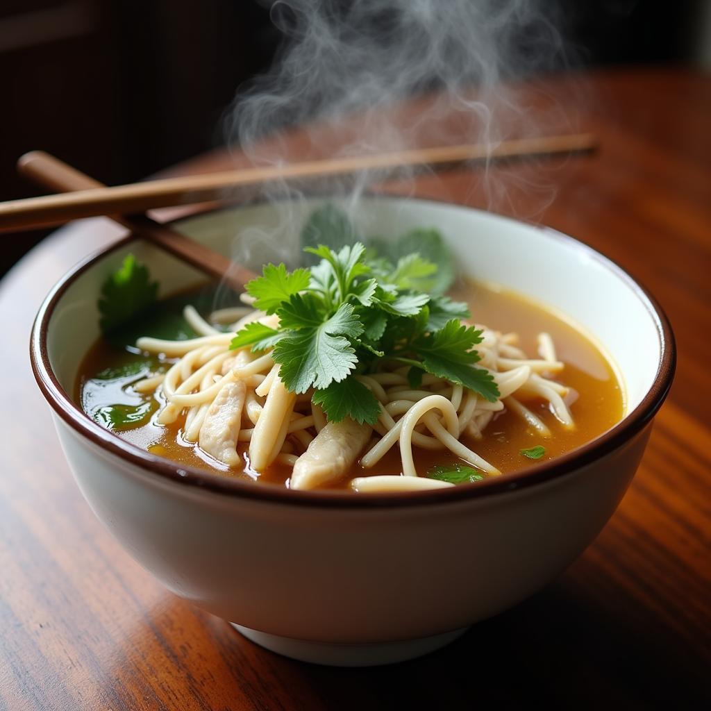
[[[167,178],[113,188],[84,188],[63,195],[28,198],[0,203],[0,232],[17,231],[96,215],[132,215],[170,205],[190,205],[224,199],[234,188],[274,181],[314,180],[350,175],[360,171],[402,171],[417,166],[442,169],[462,162],[519,159],[592,151],[591,134],[552,136],[503,141],[498,146],[466,144],[411,149],[397,153],[349,156],[321,161],[305,161],[285,166],[249,168],[206,175]],[[23,156],[23,166],[36,159],[36,152]]]

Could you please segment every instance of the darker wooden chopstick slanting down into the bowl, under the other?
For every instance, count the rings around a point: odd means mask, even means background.
[[[32,154],[23,156],[18,163],[18,169],[39,185],[55,191],[87,191],[103,188],[99,181],[43,151],[33,151]],[[245,284],[255,277],[249,269],[233,264],[227,257],[151,220],[147,215],[130,217],[111,215],[111,218],[129,228],[134,236],[153,242],[171,255],[201,269],[208,276],[222,279],[237,291],[242,291]]]

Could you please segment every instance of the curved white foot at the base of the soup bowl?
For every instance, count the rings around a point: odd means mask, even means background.
[[[444,634],[432,637],[419,637],[397,642],[381,642],[375,644],[333,644],[326,642],[311,642],[291,637],[279,637],[267,634],[249,627],[243,627],[235,622],[230,623],[247,639],[292,659],[328,666],[375,666],[414,659],[423,654],[444,647],[457,637],[464,634],[469,627],[462,627]]]

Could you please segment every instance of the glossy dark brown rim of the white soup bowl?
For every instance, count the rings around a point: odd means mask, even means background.
[[[395,198],[400,196],[380,195],[379,198]],[[402,198],[400,198],[402,199]],[[412,199],[412,198],[411,198]],[[423,199],[420,202],[438,203],[438,201]],[[461,209],[474,209],[466,205],[452,204]],[[225,208],[220,208],[225,209]],[[207,210],[201,214],[208,214],[219,210]],[[194,217],[197,215],[189,215]],[[545,227],[525,223],[523,220],[514,220],[506,215],[497,215],[506,220],[527,224],[530,227],[544,230],[547,236],[555,240],[562,240],[574,249],[584,252],[587,257],[602,264],[617,277],[621,278],[635,292],[648,312],[656,321],[658,336],[661,345],[661,360],[658,364],[654,382],[642,401],[629,412],[620,422],[601,434],[592,442],[577,447],[576,449],[556,457],[550,461],[533,464],[512,474],[502,474],[491,479],[484,479],[476,483],[460,484],[451,488],[434,489],[431,491],[408,491],[390,493],[359,493],[357,496],[348,491],[292,491],[279,486],[264,486],[252,481],[240,479],[227,479],[219,474],[191,466],[179,466],[175,462],[151,454],[140,449],[134,444],[121,439],[117,434],[101,427],[90,417],[85,415],[79,405],[73,402],[72,397],[64,390],[50,366],[47,350],[48,325],[54,309],[66,290],[87,269],[96,262],[106,257],[111,252],[122,249],[134,240],[131,235],[117,240],[112,245],[103,247],[82,260],[70,269],[55,284],[46,299],[43,301],[32,327],[30,338],[30,360],[33,374],[38,386],[48,401],[50,407],[78,434],[86,437],[90,442],[101,449],[126,459],[131,464],[147,470],[145,473],[157,474],[181,486],[198,488],[212,493],[237,498],[252,499],[269,503],[281,503],[289,506],[317,506],[332,508],[391,508],[401,506],[428,506],[433,504],[455,503],[469,498],[493,496],[505,491],[517,491],[522,488],[535,486],[540,483],[552,481],[582,466],[592,464],[601,459],[624,442],[641,431],[646,424],[651,422],[656,412],[668,395],[674,377],[676,366],[676,347],[674,334],[668,317],[658,301],[645,287],[633,279],[625,269],[614,260],[606,257],[601,252],[594,250],[589,245],[576,240],[563,232]],[[178,220],[179,221],[179,220]]]

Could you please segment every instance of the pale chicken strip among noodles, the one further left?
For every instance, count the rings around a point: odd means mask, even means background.
[[[200,428],[200,447],[228,466],[241,464],[237,454],[237,436],[240,434],[246,395],[247,386],[242,380],[225,383],[215,396]]]

